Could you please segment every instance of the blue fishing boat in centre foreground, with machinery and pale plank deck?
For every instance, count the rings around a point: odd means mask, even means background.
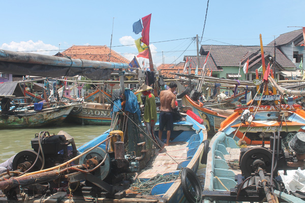
[[[8,182],[0,181],[0,188],[4,189],[8,200],[19,198],[9,194],[19,194],[20,188],[22,191],[28,189],[31,192],[25,192],[23,196],[32,202],[52,202],[54,198],[60,198],[63,202],[94,199],[99,202],[202,201],[202,186],[195,173],[200,162],[206,161],[202,153],[208,145],[203,142],[207,138],[206,129],[194,116],[192,111],[188,111],[185,114],[186,121],[174,123],[172,140],[161,153],[153,148],[151,137],[131,113],[117,113],[114,118],[116,123],[112,123],[108,131],[77,150],[73,138],[66,133],[59,132],[53,138],[48,132],[41,132],[31,141],[33,150],[25,150],[15,156],[13,166],[16,172],[10,174],[20,174],[21,165],[27,161],[25,168],[29,168],[37,157],[38,171],[33,172],[32,168],[32,172],[29,171],[31,173],[11,177]],[[120,128],[121,120],[125,120],[123,128]],[[158,130],[158,122],[156,126]],[[121,130],[115,130],[116,127]],[[44,158],[38,156],[39,142],[43,143]],[[57,161],[68,158],[65,156],[69,144],[72,145],[71,154],[74,157],[56,166]],[[65,153],[57,155],[57,150],[64,150]],[[45,161],[45,165],[50,168],[39,171],[43,160],[51,159],[53,162]],[[72,161],[74,165],[71,165]],[[33,184],[39,187],[33,188]],[[147,188],[147,185],[150,187]],[[60,187],[68,189],[57,192]],[[45,189],[55,193],[46,195]]]

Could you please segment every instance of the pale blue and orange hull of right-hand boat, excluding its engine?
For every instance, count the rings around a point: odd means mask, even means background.
[[[248,147],[254,147],[253,145],[262,145],[262,139],[259,138],[260,133],[271,134],[280,131],[281,136],[285,136],[285,134],[288,136],[290,133],[305,131],[305,111],[300,108],[299,105],[278,105],[236,109],[234,114],[222,122],[221,128],[210,141],[206,166],[206,174],[209,175],[205,177],[204,194],[209,195],[210,191],[230,191],[237,185],[235,175],[241,174],[239,170],[241,148],[237,144],[240,139],[243,139]],[[247,121],[246,123],[240,121],[240,115],[246,109],[251,114],[256,113],[251,124]],[[279,120],[279,109],[285,115],[284,124]],[[280,127],[282,124],[283,127]],[[270,141],[265,138],[264,145],[269,144]],[[238,168],[233,169],[234,166],[231,164]],[[227,200],[233,202],[233,200]],[[216,201],[206,199],[204,202]]]

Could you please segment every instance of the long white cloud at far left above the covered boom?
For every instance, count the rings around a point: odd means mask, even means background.
[[[32,40],[29,40],[27,42],[12,41],[9,44],[2,44],[0,48],[9,51],[31,51],[31,53],[38,53],[44,55],[54,55],[58,52],[58,47],[50,44],[45,44],[41,40],[38,40],[37,42],[33,42]]]

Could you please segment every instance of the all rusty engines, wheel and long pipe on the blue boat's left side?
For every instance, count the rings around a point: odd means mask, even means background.
[[[79,195],[123,198],[126,195],[124,191],[133,183],[134,175],[140,169],[139,162],[147,152],[145,142],[142,142],[137,144],[142,149],[141,156],[126,154],[123,138],[122,131],[111,131],[109,138],[103,141],[106,142],[106,150],[101,145],[87,148],[83,155],[79,154],[77,158],[74,156],[75,144],[72,149],[68,148],[68,145],[72,144],[69,141],[71,138],[50,136],[48,132],[43,132],[41,136],[40,133],[31,142],[34,150],[21,151],[13,159],[15,171],[34,172],[35,175],[0,181],[0,189],[4,189],[8,200],[16,200],[16,194],[21,187],[28,193],[45,194],[46,191],[57,192],[58,185],[67,187],[73,184],[76,185],[75,192]],[[56,168],[57,164],[64,163],[71,157],[75,157],[74,162],[64,167],[36,173],[41,168]]]

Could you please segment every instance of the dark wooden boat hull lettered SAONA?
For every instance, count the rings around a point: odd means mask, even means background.
[[[104,125],[111,123],[110,105],[97,103],[76,106],[69,114],[67,121],[85,125]]]

